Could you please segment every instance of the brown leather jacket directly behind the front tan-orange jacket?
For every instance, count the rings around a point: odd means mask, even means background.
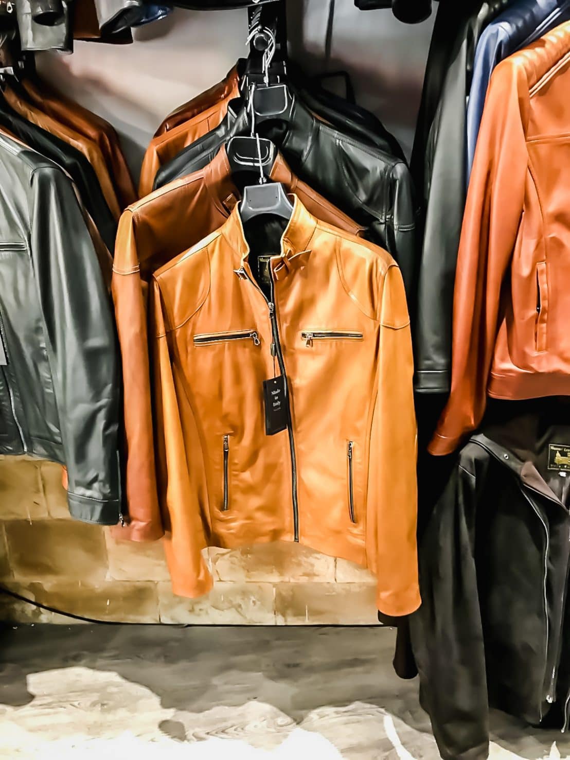
[[[296,192],[318,219],[359,235],[362,228],[300,182],[278,157],[271,178]],[[154,271],[216,230],[239,193],[226,151],[199,172],[171,182],[122,214],[113,261],[112,295],[125,397],[126,501],[130,522],[116,537],[154,540],[163,534],[154,472],[147,338],[147,290]]]

